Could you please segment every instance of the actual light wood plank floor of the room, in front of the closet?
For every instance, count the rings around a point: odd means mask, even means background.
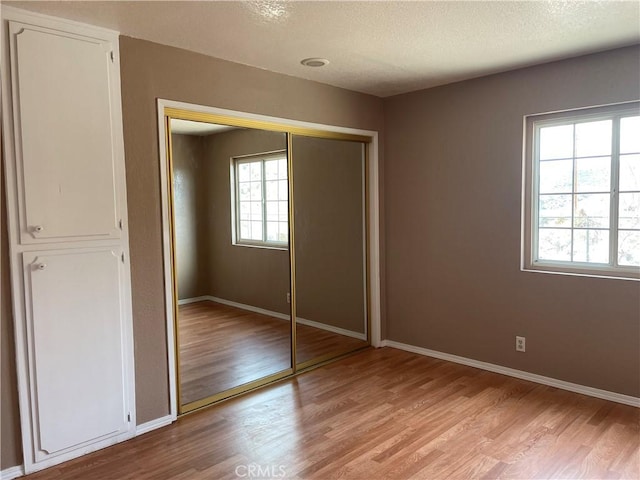
[[[637,479],[639,443],[637,408],[383,348],[27,478]]]

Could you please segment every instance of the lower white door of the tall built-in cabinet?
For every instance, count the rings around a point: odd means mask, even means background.
[[[120,252],[23,254],[36,461],[129,428]]]

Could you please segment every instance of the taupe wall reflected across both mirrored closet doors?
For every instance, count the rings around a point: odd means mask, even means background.
[[[231,243],[230,159],[286,135],[173,135],[179,299],[212,295],[288,314],[289,252]],[[364,332],[363,147],[294,137],[298,316]]]

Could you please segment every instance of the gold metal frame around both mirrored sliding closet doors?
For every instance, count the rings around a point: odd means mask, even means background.
[[[161,108],[159,106],[159,108]],[[229,398],[235,397],[242,393],[246,393],[251,390],[255,390],[269,383],[273,383],[275,381],[288,378],[294,376],[298,373],[310,370],[312,368],[316,368],[318,366],[324,365],[330,361],[341,358],[345,355],[357,352],[364,348],[368,348],[371,346],[372,338],[371,338],[371,295],[370,295],[370,268],[369,268],[369,259],[370,259],[370,240],[369,240],[369,148],[367,145],[373,141],[373,138],[366,135],[357,135],[343,132],[336,132],[331,130],[323,130],[319,128],[309,128],[309,127],[297,127],[286,124],[281,124],[277,122],[270,122],[264,120],[254,120],[247,119],[242,117],[234,117],[230,115],[222,115],[222,114],[213,114],[206,112],[198,112],[194,110],[184,109],[184,108],[176,108],[176,107],[163,107],[162,115],[164,119],[164,128],[165,128],[165,148],[166,148],[166,169],[167,169],[167,179],[166,179],[166,191],[167,191],[167,205],[169,212],[169,260],[171,262],[171,289],[172,289],[172,298],[173,298],[173,357],[175,362],[175,390],[176,390],[176,398],[175,402],[177,403],[177,413],[178,415],[184,415],[195,410],[201,409],[203,407],[207,407],[209,405],[215,404],[222,400],[227,400]],[[174,206],[174,191],[173,191],[173,152],[172,152],[172,144],[171,144],[171,120],[187,120],[193,122],[202,122],[202,123],[213,123],[218,125],[226,125],[232,127],[240,127],[240,128],[251,128],[255,130],[263,130],[263,131],[271,131],[271,132],[282,132],[287,136],[287,174],[288,184],[289,184],[289,282],[290,282],[290,290],[291,290],[291,307],[290,307],[290,317],[291,317],[291,330],[290,330],[290,338],[291,338],[291,366],[288,369],[282,370],[280,372],[276,372],[275,374],[268,375],[266,377],[254,380],[249,383],[245,383],[242,385],[238,385],[237,387],[233,387],[228,390],[224,390],[222,392],[216,393],[214,395],[210,395],[200,400],[196,400],[194,402],[190,402],[188,404],[181,404],[181,387],[180,387],[180,343],[179,343],[179,328],[178,328],[178,272],[177,272],[177,263],[176,263],[176,238],[175,238],[175,206]],[[342,141],[351,141],[351,142],[359,142],[365,145],[364,148],[364,178],[365,178],[365,255],[367,261],[364,263],[365,269],[365,295],[366,295],[366,330],[367,330],[367,345],[361,348],[357,348],[349,351],[335,351],[323,354],[320,357],[316,357],[305,361],[302,364],[297,364],[296,362],[296,277],[295,277],[295,215],[294,215],[294,206],[292,199],[294,194],[294,176],[293,176],[293,135],[304,136],[304,137],[315,137],[315,138],[324,138],[330,140],[342,140]],[[171,354],[171,352],[169,352]]]

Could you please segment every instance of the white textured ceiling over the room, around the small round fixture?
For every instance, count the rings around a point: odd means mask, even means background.
[[[637,0],[2,4],[381,97],[640,43]]]

